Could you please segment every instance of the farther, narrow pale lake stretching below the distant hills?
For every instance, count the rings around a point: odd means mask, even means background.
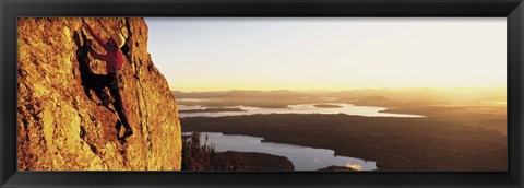
[[[420,115],[410,114],[395,114],[395,113],[381,113],[386,109],[385,107],[373,106],[355,106],[345,103],[323,103],[323,105],[336,105],[336,108],[317,107],[315,104],[300,104],[288,105],[287,108],[260,108],[252,106],[228,106],[228,108],[240,108],[245,111],[199,111],[199,113],[180,113],[180,117],[223,117],[223,116],[242,116],[242,115],[255,115],[255,114],[347,114],[368,117],[409,117],[419,118],[425,117]],[[186,106],[178,105],[179,110],[190,109],[205,109],[204,106]]]

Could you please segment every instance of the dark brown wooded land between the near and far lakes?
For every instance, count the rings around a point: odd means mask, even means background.
[[[181,121],[183,131],[216,131],[260,137],[264,142],[330,149],[335,155],[376,161],[379,171],[505,168],[505,137],[436,118],[273,114],[187,117]],[[466,136],[455,137],[458,134]],[[487,139],[487,134],[493,139]]]

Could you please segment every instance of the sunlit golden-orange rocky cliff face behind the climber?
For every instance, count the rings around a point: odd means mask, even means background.
[[[120,32],[133,49],[122,68],[123,103],[134,131],[126,142],[117,139],[112,105],[97,105],[83,83],[86,69],[106,73],[105,62],[82,50],[84,40],[93,39],[85,23],[102,38]],[[147,54],[143,19],[19,19],[17,28],[19,169],[180,169],[177,106]]]

